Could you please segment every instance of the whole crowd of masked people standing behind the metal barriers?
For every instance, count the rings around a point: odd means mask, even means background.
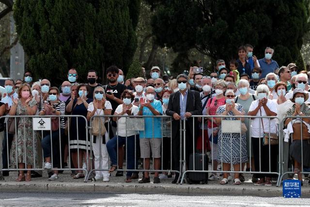
[[[95,171],[93,181],[108,182],[114,171],[116,176],[123,176],[125,157],[125,182],[132,182],[139,178],[139,173],[130,170],[138,169],[141,158],[145,171],[139,183],[148,183],[153,158],[153,182],[159,183],[171,176],[169,170],[188,169],[191,153],[211,151],[214,172],[208,177],[210,181],[219,179],[217,169],[222,166],[223,171],[263,172],[253,174],[252,182],[271,186],[272,178],[278,176],[268,172],[277,172],[278,168],[277,139],[283,130],[279,128],[280,122],[286,116],[295,116],[284,121],[283,149],[289,154],[287,167],[293,165],[292,171],[302,181],[300,171],[310,167],[310,118],[302,118],[310,115],[310,73],[299,70],[294,63],[279,67],[272,59],[273,53],[272,48],[266,48],[264,57],[258,60],[251,45],[242,46],[238,48],[237,60],[228,64],[217,60],[210,74],[193,66],[176,79],[164,75],[158,66],[151,68],[149,79],[141,68],[144,77],[130,80],[125,80],[117,66],[110,66],[106,70],[107,85],[97,82],[95,70],[88,71],[87,83],[78,83],[81,79],[74,68],[59,87],[47,79],[34,82],[30,71],[25,72],[23,80],[7,79],[6,93],[0,102],[1,116],[58,117],[51,118],[52,131],[43,133],[32,130],[31,117],[5,119],[3,168],[29,169],[26,175],[20,170],[16,181],[30,181],[31,177],[42,175],[42,171],[31,169],[47,169],[49,180],[58,180],[61,171],[57,169],[70,166],[77,169],[72,177],[78,179],[85,176],[81,170],[83,163],[90,163],[93,155],[94,169],[109,169]],[[78,117],[63,117],[66,114]],[[94,135],[87,126],[98,115],[106,115],[96,122],[104,130]],[[108,118],[109,115],[119,116]],[[143,118],[144,130],[127,127],[125,116],[137,115],[147,116]],[[162,115],[171,118],[161,118]],[[244,115],[253,118],[242,118]],[[223,120],[240,120],[245,130],[223,132]],[[185,132],[180,133],[184,127]],[[184,147],[186,166],[180,165]],[[90,165],[86,168],[91,170]],[[2,173],[9,175],[9,171]],[[245,181],[239,173],[221,176],[220,184],[233,181],[239,185]],[[177,183],[178,177],[175,173],[172,183]]]

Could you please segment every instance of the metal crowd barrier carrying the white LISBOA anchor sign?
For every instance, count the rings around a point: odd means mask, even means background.
[[[53,141],[52,141],[52,133],[53,131],[51,130],[51,118],[52,117],[58,117],[58,124],[59,124],[59,128],[55,131],[58,131],[59,133],[59,156],[60,156],[60,160],[59,160],[59,163],[60,163],[60,167],[59,168],[54,168],[53,167],[53,163],[55,160],[53,160]],[[67,120],[70,120],[70,119],[76,119],[76,123],[77,123],[77,126],[76,126],[76,130],[77,130],[77,137],[76,137],[76,140],[77,140],[77,151],[78,151],[78,167],[74,167],[74,166],[71,166],[71,153],[70,153],[70,128],[71,128],[71,123],[70,121],[68,121],[67,123],[67,126],[68,126],[68,135],[67,135],[67,143],[68,144],[68,150],[69,150],[69,153],[68,153],[68,157],[69,157],[69,163],[68,163],[68,168],[64,168],[63,166],[63,163],[62,163],[62,156],[63,156],[63,153],[62,153],[62,139],[64,136],[63,133],[61,133],[61,131],[63,129],[61,129],[61,117],[64,117],[65,119],[65,122]],[[9,119],[14,119],[13,120],[13,124],[15,125],[15,132],[11,132],[11,134],[9,133],[10,131],[10,128],[8,128],[9,124]],[[29,120],[27,120],[28,118],[31,118],[31,123]],[[70,119],[69,119],[70,118]],[[43,170],[46,170],[44,169],[44,157],[43,157],[43,148],[40,149],[38,147],[38,145],[40,146],[41,145],[41,141],[42,139],[44,138],[44,134],[45,136],[47,136],[47,133],[44,133],[44,131],[48,132],[49,135],[50,135],[50,145],[51,145],[51,165],[52,165],[52,168],[51,169],[48,169],[48,170],[71,170],[71,171],[84,171],[85,172],[85,175],[87,176],[88,175],[88,170],[87,169],[83,169],[83,166],[80,166],[79,164],[79,153],[80,153],[80,145],[78,143],[79,141],[79,133],[78,133],[78,123],[81,122],[81,120],[78,121],[78,119],[81,118],[82,120],[85,120],[85,131],[86,131],[86,134],[85,134],[85,137],[86,137],[86,143],[88,143],[88,123],[87,123],[87,119],[84,117],[84,116],[81,116],[81,115],[44,115],[44,116],[40,116],[40,115],[34,115],[34,116],[29,116],[29,115],[15,115],[15,116],[1,116],[0,119],[5,119],[5,123],[6,123],[6,127],[4,129],[4,142],[6,142],[6,160],[7,160],[7,168],[3,168],[3,169],[0,169],[0,171],[26,171],[26,170],[31,170],[31,171],[43,171]],[[18,125],[20,124],[20,122],[22,123],[25,123],[28,122],[27,124],[22,124],[22,128],[19,128],[18,129]],[[32,127],[32,137],[28,137],[27,136],[27,129],[29,129],[29,127]],[[12,128],[11,128],[12,129]],[[23,131],[23,134],[24,136],[22,138],[18,138],[17,140],[17,136],[18,136],[18,131],[22,130]],[[17,136],[16,136],[17,135]],[[9,138],[10,137],[10,138]],[[11,140],[10,140],[11,139]],[[11,148],[11,144],[10,143],[16,143],[15,146],[17,146],[18,144],[18,141],[20,141],[22,139],[22,143],[23,143],[23,151],[24,151],[24,154],[22,155],[22,162],[19,162],[19,163],[24,163],[25,164],[25,167],[24,168],[19,168],[18,167],[18,159],[17,159],[17,147],[15,147],[15,152],[13,152],[13,150],[10,150]],[[31,140],[31,141],[30,141]],[[54,141],[56,142],[56,141]],[[2,145],[2,143],[1,143]],[[64,146],[63,146],[64,147]],[[33,160],[27,160],[27,155],[26,153],[32,153],[33,154]],[[2,151],[1,151],[2,153]],[[15,157],[12,155],[11,157],[11,154],[12,153],[15,153]],[[42,154],[41,154],[42,153]],[[86,157],[88,157],[88,150],[86,150]],[[42,156],[41,156],[42,155]],[[1,158],[2,159],[2,158]],[[14,162],[14,165],[12,164],[13,163],[13,160],[12,159],[15,159]],[[65,162],[66,160],[64,160]],[[31,165],[31,167],[27,167],[27,165],[29,166],[29,163],[33,163],[33,165]],[[89,168],[89,163],[88,163],[88,159],[85,160],[86,162],[86,166],[87,168]],[[3,163],[4,164],[4,163]]]

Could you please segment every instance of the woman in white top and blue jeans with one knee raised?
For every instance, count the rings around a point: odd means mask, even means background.
[[[139,108],[132,104],[134,100],[134,95],[130,90],[124,90],[122,94],[123,104],[120,104],[116,110],[114,115],[121,115],[121,116],[132,116],[137,115]],[[110,168],[110,173],[114,172],[117,169],[117,146],[126,146],[126,159],[127,159],[127,169],[138,169],[135,168],[135,153],[136,153],[136,146],[135,146],[135,135],[136,131],[126,128],[126,117],[113,117],[114,121],[118,123],[117,125],[117,136],[113,137],[107,143],[107,149],[109,152],[109,156],[112,162],[112,166]],[[139,136],[139,135],[137,135]],[[138,140],[139,141],[139,140]],[[124,159],[124,158],[123,158]],[[136,162],[138,163],[138,162]],[[138,166],[136,166],[138,167]],[[126,172],[126,183],[131,182],[133,175],[132,171]]]

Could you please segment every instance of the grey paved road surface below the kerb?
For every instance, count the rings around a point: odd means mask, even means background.
[[[251,196],[188,196],[110,193],[20,193],[1,192],[0,207],[278,207],[309,206],[310,199]]]

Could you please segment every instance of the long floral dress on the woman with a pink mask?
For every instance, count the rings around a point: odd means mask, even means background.
[[[30,107],[33,107],[36,104],[37,102],[35,100],[29,102]],[[16,115],[28,115],[26,107],[22,106],[20,100],[18,100],[17,103]],[[32,130],[32,118],[16,118],[16,124],[17,122],[17,136],[15,134],[11,148],[11,166],[12,168],[16,168],[18,163],[33,165],[35,160],[35,167],[37,167],[37,139],[36,134],[33,133]]]

